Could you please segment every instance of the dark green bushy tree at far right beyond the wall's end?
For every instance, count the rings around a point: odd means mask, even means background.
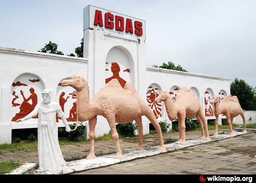
[[[230,85],[230,94],[237,96],[241,108],[246,111],[256,110],[256,96],[253,87],[237,78]]]

